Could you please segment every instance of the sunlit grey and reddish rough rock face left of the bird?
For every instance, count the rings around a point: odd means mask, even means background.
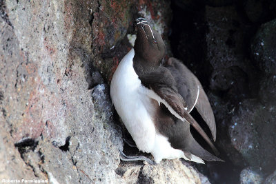
[[[88,90],[83,67],[90,62],[86,54],[91,52],[92,28],[89,19],[76,17],[81,8],[89,17],[87,5],[85,1],[78,6],[74,1],[5,1],[2,5],[6,19],[1,18],[1,126],[10,136],[1,136],[11,143],[16,162],[25,164],[19,167],[21,175],[1,178],[120,181],[115,169],[122,142],[111,118],[108,87]],[[81,36],[76,40],[75,34]],[[82,49],[75,48],[77,44]],[[8,167],[12,169],[12,164]]]

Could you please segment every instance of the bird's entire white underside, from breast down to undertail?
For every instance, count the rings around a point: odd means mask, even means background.
[[[132,139],[142,152],[150,152],[159,163],[162,159],[184,158],[184,152],[170,146],[168,138],[155,130],[151,114],[154,110],[149,90],[141,85],[134,68],[134,50],[121,60],[115,71],[111,85],[110,96],[121,120],[126,125]],[[192,161],[204,163],[197,156]]]

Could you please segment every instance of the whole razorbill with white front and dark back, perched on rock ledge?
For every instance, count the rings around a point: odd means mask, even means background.
[[[217,149],[189,114],[196,108],[216,139],[213,110],[197,77],[177,59],[161,65],[165,44],[144,18],[136,19],[135,45],[112,76],[110,96],[121,120],[142,152],[162,159],[204,163],[222,161],[195,141],[190,125]]]

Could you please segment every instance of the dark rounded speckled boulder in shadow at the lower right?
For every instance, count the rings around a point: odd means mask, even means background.
[[[273,172],[276,164],[275,155],[271,154],[276,152],[275,116],[275,105],[243,101],[229,127],[231,142],[243,158],[250,166],[266,172]]]

